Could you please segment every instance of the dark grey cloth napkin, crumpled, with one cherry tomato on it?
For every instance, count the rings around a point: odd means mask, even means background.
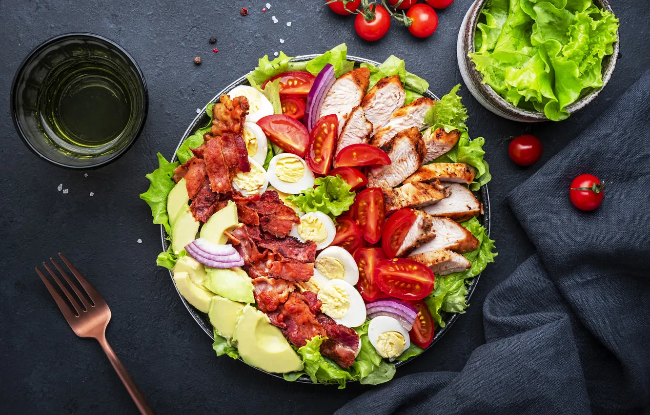
[[[568,196],[586,172],[614,182],[592,212]],[[337,414],[650,413],[649,181],[647,72],[508,196],[537,254],[487,296],[487,343],[465,368],[395,379]]]

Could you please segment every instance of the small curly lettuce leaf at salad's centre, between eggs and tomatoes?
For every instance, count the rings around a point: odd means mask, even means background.
[[[304,212],[321,211],[336,219],[354,203],[355,193],[350,191],[352,186],[341,179],[340,175],[317,178],[315,187],[305,189],[300,194],[287,196]]]

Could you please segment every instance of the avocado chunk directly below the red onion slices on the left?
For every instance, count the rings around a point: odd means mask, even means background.
[[[250,304],[255,302],[250,276],[239,267],[227,269],[205,267],[203,286],[231,301]]]

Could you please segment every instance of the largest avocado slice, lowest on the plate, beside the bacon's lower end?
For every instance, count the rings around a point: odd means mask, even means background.
[[[233,341],[244,362],[267,372],[302,370],[302,359],[278,327],[263,312],[246,305],[235,326]]]

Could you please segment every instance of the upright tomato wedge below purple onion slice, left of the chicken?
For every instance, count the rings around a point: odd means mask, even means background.
[[[311,171],[326,174],[331,167],[331,156],[339,137],[339,117],[329,114],[320,117],[309,134],[309,150],[305,161]]]

